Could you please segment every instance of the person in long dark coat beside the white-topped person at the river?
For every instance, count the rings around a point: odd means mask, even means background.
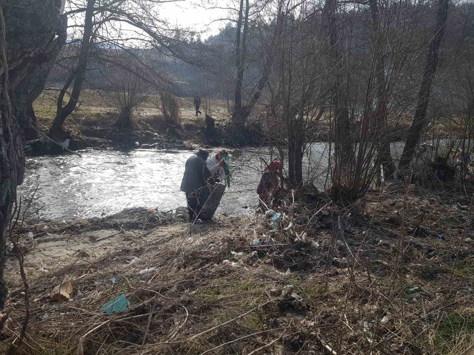
[[[206,166],[206,159],[208,157],[209,151],[199,148],[196,154],[193,154],[186,160],[186,167],[184,168],[184,175],[181,181],[181,191],[186,194],[189,222],[193,222],[199,216],[205,203],[205,201],[201,200],[204,200],[204,196],[209,195],[205,191],[208,189],[206,182],[208,179],[212,179],[210,171]]]

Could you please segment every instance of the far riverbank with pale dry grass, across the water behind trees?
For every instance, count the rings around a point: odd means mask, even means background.
[[[118,110],[110,107],[110,103],[100,92],[83,90],[81,98],[81,104],[64,123],[64,138],[70,139],[69,148],[73,151],[91,147],[130,149],[136,147],[136,142],[139,146],[168,150],[192,150],[198,146],[234,146],[233,137],[230,135],[231,114],[228,103],[224,100],[210,101],[210,112],[215,122],[212,132],[207,132],[205,114],[196,116],[192,98],[179,98],[181,128],[175,129],[164,123],[159,102],[157,103],[153,96],[134,110],[133,130],[122,132],[114,127]],[[44,132],[47,132],[53,123],[55,107],[54,96],[42,96],[34,103],[37,125]],[[203,107],[201,107],[202,112],[204,112]],[[247,146],[261,146],[269,143],[264,132],[265,124],[262,125],[262,120],[265,120],[263,110],[264,107],[257,107],[255,113],[248,118]],[[392,137],[392,142],[404,141],[411,118],[398,115],[392,117],[390,122],[391,127],[385,130]],[[328,142],[331,132],[329,125],[328,117],[323,115],[318,124],[313,127],[312,140]],[[440,120],[432,127],[432,131],[436,134],[427,132],[424,139],[430,141],[463,136],[464,133],[459,127],[457,125],[446,127],[444,121]],[[357,130],[356,127],[355,129]],[[34,155],[61,150],[61,147],[46,140],[45,142],[27,142],[25,151]]]

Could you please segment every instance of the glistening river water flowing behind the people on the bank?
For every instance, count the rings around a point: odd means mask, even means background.
[[[305,177],[314,178],[319,187],[326,178],[327,149],[326,143],[314,143],[304,159]],[[401,149],[401,144],[393,145],[392,154],[398,155]],[[267,149],[229,152],[233,180],[216,213],[249,216],[258,203],[255,190],[263,169],[259,157],[271,157]],[[180,185],[192,151],[86,149],[78,153],[82,157],[65,153],[27,158],[25,180],[18,193],[24,205],[35,194],[28,215],[71,220],[109,215],[128,207],[169,211],[186,206]]]

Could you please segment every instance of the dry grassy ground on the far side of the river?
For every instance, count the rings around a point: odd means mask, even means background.
[[[55,117],[56,95],[58,91],[46,92],[40,96],[34,103],[33,107],[37,116],[37,124],[44,130],[48,130]],[[124,146],[133,145],[134,142],[156,143],[164,142],[164,147],[172,147],[180,145],[175,143],[174,138],[184,141],[187,146],[206,145],[210,141],[205,135],[205,113],[207,106],[210,106],[210,115],[214,118],[216,127],[219,131],[217,141],[212,144],[232,145],[232,137],[229,136],[231,129],[231,113],[228,112],[228,104],[225,100],[212,99],[207,101],[203,99],[200,110],[201,115],[196,116],[193,105],[193,98],[179,98],[180,106],[180,124],[181,130],[179,136],[170,137],[165,134],[168,125],[164,123],[161,112],[161,102],[157,101],[156,96],[149,96],[148,100],[135,108],[133,112],[134,129],[132,132],[119,132],[115,129],[114,124],[118,118],[118,108],[113,107],[109,100],[103,97],[99,91],[83,90],[81,93],[81,103],[78,108],[68,116],[64,123],[64,130],[68,132],[69,137],[73,140],[89,142],[88,144],[96,145],[114,145],[122,144]],[[252,127],[252,133],[249,133],[249,140],[259,144],[258,139],[264,136],[281,135],[278,132],[286,132],[286,123],[275,123],[265,114],[264,107],[256,107],[247,120],[249,127]],[[452,119],[453,117],[451,117]],[[411,124],[412,116],[410,113],[390,115],[387,120],[387,130],[390,131],[394,141],[403,141],[406,138],[408,129]],[[330,125],[332,118],[330,111],[325,112],[319,122],[312,126],[310,139],[313,142],[327,142],[330,137]],[[456,122],[455,122],[456,121]],[[426,132],[424,139],[437,138],[456,138],[463,135],[460,128],[461,118],[457,120],[437,119],[431,123]],[[256,123],[255,127],[253,124]],[[354,137],[357,141],[360,134],[356,128],[354,129]],[[265,140],[265,139],[264,139]],[[254,142],[255,141],[255,142]],[[125,143],[124,143],[125,142]]]

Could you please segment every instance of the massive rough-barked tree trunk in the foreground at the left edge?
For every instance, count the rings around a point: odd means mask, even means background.
[[[16,0],[15,6],[10,3],[0,0],[6,28],[5,42],[1,41],[6,43],[6,58],[1,60],[0,95],[7,103],[0,107],[0,309],[7,297],[3,281],[5,232],[17,185],[24,176],[24,130],[30,124],[27,110],[44,87],[66,40],[67,27],[67,18],[60,13],[61,1]]]

